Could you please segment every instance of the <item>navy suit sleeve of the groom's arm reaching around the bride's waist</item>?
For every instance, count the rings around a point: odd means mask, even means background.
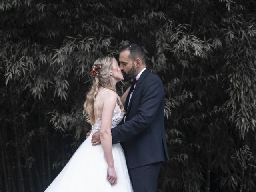
[[[125,142],[146,130],[154,120],[161,102],[164,100],[164,87],[159,77],[151,78],[142,90],[138,114],[122,125],[112,128],[113,144]]]

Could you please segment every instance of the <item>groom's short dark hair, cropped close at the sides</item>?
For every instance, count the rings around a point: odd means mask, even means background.
[[[132,43],[132,44],[128,44],[126,46],[123,46],[120,49],[120,52],[125,51],[125,50],[129,50],[130,51],[130,55],[129,58],[134,62],[137,58],[140,58],[140,60],[142,60],[142,63],[145,64],[145,52],[144,49],[142,48],[142,46]]]

